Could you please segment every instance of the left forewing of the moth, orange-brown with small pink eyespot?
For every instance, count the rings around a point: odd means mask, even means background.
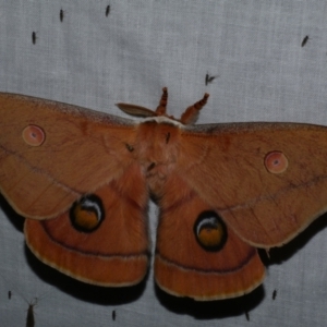
[[[12,94],[0,116],[0,191],[25,217],[57,217],[134,162],[131,120]]]

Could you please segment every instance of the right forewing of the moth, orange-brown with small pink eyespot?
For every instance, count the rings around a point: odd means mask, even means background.
[[[325,126],[198,125],[179,146],[179,175],[254,246],[280,246],[326,211]]]

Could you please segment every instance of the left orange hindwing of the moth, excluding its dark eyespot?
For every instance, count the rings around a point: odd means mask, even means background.
[[[138,165],[98,189],[98,228],[80,230],[74,210],[48,220],[25,220],[25,239],[45,264],[84,282],[125,287],[140,282],[148,267],[148,194]]]

